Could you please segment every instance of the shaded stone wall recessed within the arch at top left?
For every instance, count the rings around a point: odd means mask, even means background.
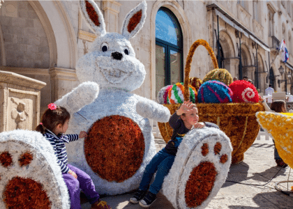
[[[5,2],[0,10],[6,66],[49,68],[47,36],[28,1]]]

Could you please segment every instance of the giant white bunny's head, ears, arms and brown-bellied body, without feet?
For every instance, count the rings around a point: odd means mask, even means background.
[[[148,118],[170,118],[163,105],[130,93],[146,75],[129,39],[142,29],[147,3],[126,15],[121,34],[106,32],[94,1],[80,1],[80,8],[98,38],[77,61],[83,83],[55,102],[70,112],[68,133],[88,131],[87,139],[66,145],[68,162],[88,173],[100,194],[122,194],[137,189],[156,153]]]

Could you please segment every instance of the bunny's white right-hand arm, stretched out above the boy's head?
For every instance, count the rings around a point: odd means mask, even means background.
[[[170,118],[170,110],[167,107],[147,98],[140,98],[136,104],[136,111],[144,118],[150,118],[161,123],[168,122]]]

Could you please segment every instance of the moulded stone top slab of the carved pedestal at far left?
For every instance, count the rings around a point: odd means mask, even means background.
[[[17,84],[19,86],[24,86],[27,88],[34,88],[38,91],[47,85],[45,82],[40,82],[36,79],[32,79],[24,75],[19,75],[15,72],[8,72],[2,70],[0,70],[0,82],[7,84]]]

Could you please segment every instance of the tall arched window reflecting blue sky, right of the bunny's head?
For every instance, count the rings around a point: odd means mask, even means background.
[[[183,82],[182,32],[172,11],[162,7],[156,15],[156,95],[177,82]]]

